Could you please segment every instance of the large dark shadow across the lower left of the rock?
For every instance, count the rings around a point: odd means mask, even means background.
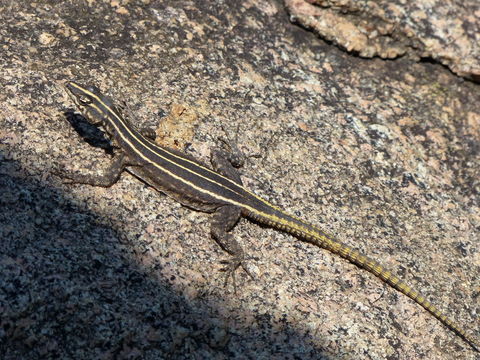
[[[286,349],[268,319],[230,332],[208,299],[146,274],[108,219],[22,173],[0,154],[2,359],[327,359],[288,326]]]

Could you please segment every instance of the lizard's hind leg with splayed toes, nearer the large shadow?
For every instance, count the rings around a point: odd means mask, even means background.
[[[242,267],[245,272],[253,278],[251,272],[245,266],[245,252],[240,244],[235,240],[232,234],[228,232],[233,229],[235,224],[241,217],[241,208],[234,205],[224,205],[217,209],[212,219],[211,234],[220,247],[229,253],[232,257],[223,260],[226,266],[223,271],[226,272],[225,286],[231,277],[233,288],[236,292],[235,271],[238,267]]]

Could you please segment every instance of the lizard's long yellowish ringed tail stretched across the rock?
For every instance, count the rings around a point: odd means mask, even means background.
[[[467,335],[467,333],[458,324],[447,318],[440,312],[440,310],[432,305],[432,303],[430,303],[425,296],[400,280],[390,271],[386,270],[378,262],[369,259],[367,256],[359,253],[350,246],[335,240],[333,236],[324,233],[313,225],[304,223],[302,220],[288,215],[273,206],[271,209],[265,208],[265,210],[265,212],[249,211],[246,215],[254,221],[287,232],[301,240],[308,241],[314,245],[329,250],[334,254],[340,255],[358,267],[371,272],[375,276],[382,279],[382,281],[422,306],[430,314],[436,317],[442,324],[451,329],[455,334],[467,342],[475,351],[480,352],[480,346],[478,343],[472,337]]]

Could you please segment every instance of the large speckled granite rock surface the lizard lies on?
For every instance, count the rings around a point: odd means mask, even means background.
[[[62,88],[93,83],[203,161],[227,136],[249,188],[479,338],[475,83],[340,51],[280,1],[2,1],[0,18],[0,358],[478,359],[322,249],[241,221],[257,279],[239,271],[235,294],[210,215],[128,173],[107,189],[52,174],[111,159]]]

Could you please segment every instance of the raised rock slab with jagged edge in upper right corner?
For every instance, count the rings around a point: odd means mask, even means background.
[[[285,0],[293,21],[363,57],[431,58],[480,81],[480,2]]]

